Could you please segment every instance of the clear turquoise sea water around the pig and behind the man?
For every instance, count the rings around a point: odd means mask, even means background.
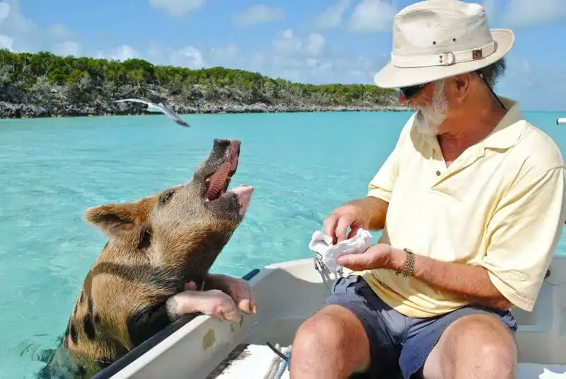
[[[0,122],[0,378],[33,378],[33,351],[61,334],[105,239],[83,210],[187,181],[215,137],[242,140],[233,186],[255,186],[246,220],[213,267],[241,276],[311,256],[308,240],[364,196],[408,113],[191,115]],[[559,113],[525,113],[566,153]],[[562,114],[563,115],[563,114]],[[566,156],[566,154],[565,154]],[[557,254],[566,254],[566,234]],[[24,351],[22,353],[22,351]]]

